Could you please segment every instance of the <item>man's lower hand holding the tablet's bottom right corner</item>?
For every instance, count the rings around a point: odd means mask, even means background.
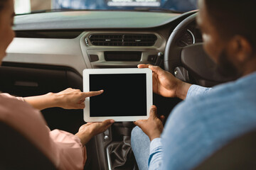
[[[149,119],[147,120],[137,120],[134,122],[135,125],[139,126],[142,131],[148,135],[150,141],[154,140],[157,137],[160,137],[161,132],[164,129],[162,120],[164,116],[160,117],[161,120],[156,115],[156,106],[151,106]]]

